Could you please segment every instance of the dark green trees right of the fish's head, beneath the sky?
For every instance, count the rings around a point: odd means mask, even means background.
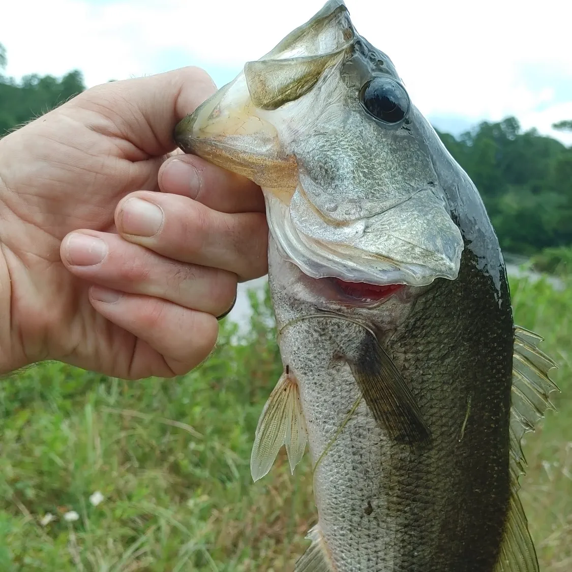
[[[572,149],[522,132],[514,117],[439,135],[479,189],[502,248],[530,255],[572,244]]]

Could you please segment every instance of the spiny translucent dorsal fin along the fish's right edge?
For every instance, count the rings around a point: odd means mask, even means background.
[[[505,538],[494,572],[538,572],[538,561],[528,530],[525,512],[518,498],[519,476],[526,459],[521,440],[534,431],[550,403],[551,391],[558,390],[548,372],[557,367],[537,345],[542,337],[521,327],[514,328],[513,390],[510,415],[510,476],[512,494],[507,515]]]

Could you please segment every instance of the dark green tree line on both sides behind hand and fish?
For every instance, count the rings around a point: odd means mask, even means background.
[[[16,81],[2,74],[5,65],[0,45],[0,137],[85,89],[78,70]],[[572,121],[554,128],[572,131]],[[438,133],[479,189],[505,251],[530,256],[572,245],[572,148],[523,131],[514,117],[483,121],[456,137]]]

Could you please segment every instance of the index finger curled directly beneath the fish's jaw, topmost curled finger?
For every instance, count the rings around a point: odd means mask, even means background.
[[[258,185],[194,155],[166,160],[159,170],[158,182],[164,193],[182,194],[221,212],[265,212]]]

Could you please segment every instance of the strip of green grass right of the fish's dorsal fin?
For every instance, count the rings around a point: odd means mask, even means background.
[[[549,411],[534,433],[525,435],[529,462],[521,498],[541,571],[572,569],[572,279],[555,292],[546,281],[511,281],[515,320],[545,337],[540,349],[559,365],[551,376],[562,393],[551,394]]]

